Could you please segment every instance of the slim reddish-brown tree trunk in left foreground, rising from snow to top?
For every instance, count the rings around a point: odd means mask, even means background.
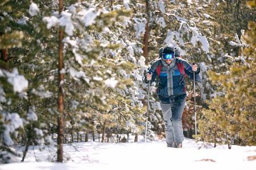
[[[59,0],[59,14],[63,11],[63,0]],[[63,36],[64,31],[59,27],[59,117],[58,117],[58,137],[57,137],[57,162],[63,162],[63,134],[64,134],[64,120],[63,120],[63,111],[64,111],[64,74],[60,71],[64,68],[63,65]]]

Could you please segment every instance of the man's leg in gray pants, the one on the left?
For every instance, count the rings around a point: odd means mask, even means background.
[[[172,147],[174,143],[174,135],[172,133],[172,109],[170,103],[161,103],[161,108],[163,112],[164,119],[164,130],[166,131],[166,143],[167,147]]]

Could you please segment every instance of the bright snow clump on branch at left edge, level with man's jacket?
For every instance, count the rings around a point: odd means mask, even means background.
[[[10,84],[13,85],[14,92],[22,92],[28,86],[28,81],[24,75],[19,75],[18,69],[14,68],[13,72],[5,71],[7,80]]]

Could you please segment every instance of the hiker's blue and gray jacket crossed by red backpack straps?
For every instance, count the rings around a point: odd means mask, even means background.
[[[159,65],[161,66],[159,67]],[[148,73],[152,74],[151,83],[155,81],[155,78],[158,78],[156,95],[158,95],[161,103],[170,103],[171,100],[175,99],[176,97],[186,96],[187,92],[185,90],[186,84],[184,71],[185,74],[193,79],[191,65],[185,59],[179,57],[174,58],[170,65],[167,65],[163,58],[160,58],[152,63]],[[197,71],[195,72],[195,80],[197,82],[201,82],[199,73],[200,68],[198,67]],[[146,76],[144,76],[144,82],[149,82],[146,79]]]

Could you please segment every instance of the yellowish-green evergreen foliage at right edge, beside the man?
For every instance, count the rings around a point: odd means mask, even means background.
[[[249,45],[246,65],[234,63],[226,74],[210,72],[210,80],[219,87],[222,95],[208,102],[199,123],[200,138],[207,142],[220,141],[236,145],[255,145],[256,134],[256,87],[255,87],[255,23],[250,22],[249,31],[241,39]],[[216,129],[219,135],[209,135]]]

